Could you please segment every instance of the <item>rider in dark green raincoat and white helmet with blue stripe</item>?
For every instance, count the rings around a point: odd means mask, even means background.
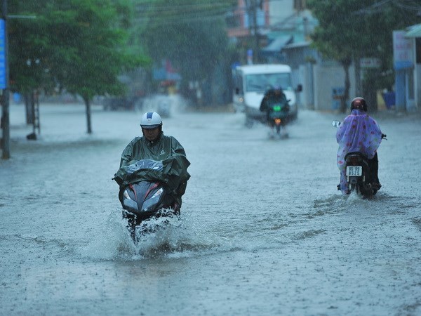
[[[162,131],[162,119],[156,112],[146,112],[140,120],[143,136],[135,137],[124,148],[121,154],[120,169],[114,176],[114,180],[122,187],[137,182],[142,176],[129,174],[130,165],[141,159],[151,159],[163,163],[163,171],[150,173],[170,188],[173,196],[181,206],[181,197],[185,194],[187,180],[190,178],[187,172],[189,161],[184,147],[173,136],[166,136]],[[146,175],[148,176],[148,175]]]

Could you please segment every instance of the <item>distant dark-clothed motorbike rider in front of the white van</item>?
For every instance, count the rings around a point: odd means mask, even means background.
[[[265,96],[263,96],[262,102],[260,103],[260,112],[266,112],[267,124],[272,130],[274,129],[274,120],[271,119],[271,114],[274,112],[273,106],[281,105],[281,112],[283,112],[286,117],[290,110],[288,102],[289,100],[286,99],[285,93],[283,93],[280,86],[269,88],[265,92]],[[285,125],[286,120],[282,119],[281,126],[284,128]]]

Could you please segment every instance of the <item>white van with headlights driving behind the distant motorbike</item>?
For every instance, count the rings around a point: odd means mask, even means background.
[[[246,113],[246,126],[253,126],[256,120],[265,122],[266,114],[260,112],[260,103],[265,91],[276,86],[280,86],[286,98],[290,100],[288,119],[297,117],[298,105],[295,93],[302,91],[302,86],[298,85],[294,89],[291,77],[290,66],[281,64],[244,65],[234,69],[234,109]]]

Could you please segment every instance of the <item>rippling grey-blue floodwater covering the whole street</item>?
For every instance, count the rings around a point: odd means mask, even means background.
[[[172,109],[192,163],[180,220],[133,244],[112,181],[142,112],[11,105],[0,161],[0,315],[421,315],[421,119],[378,114],[382,189],[343,197],[335,129],[290,137],[241,113]]]

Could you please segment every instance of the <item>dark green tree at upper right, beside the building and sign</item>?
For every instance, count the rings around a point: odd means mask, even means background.
[[[364,81],[366,93],[373,94],[380,82],[393,80],[381,74],[390,74],[392,64],[392,31],[415,24],[421,10],[417,0],[308,0],[308,8],[319,20],[312,34],[313,45],[326,58],[337,60],[345,70],[345,95],[340,110],[345,112],[349,98],[349,66],[354,62],[356,72],[364,57],[380,58],[377,75],[370,74]]]

